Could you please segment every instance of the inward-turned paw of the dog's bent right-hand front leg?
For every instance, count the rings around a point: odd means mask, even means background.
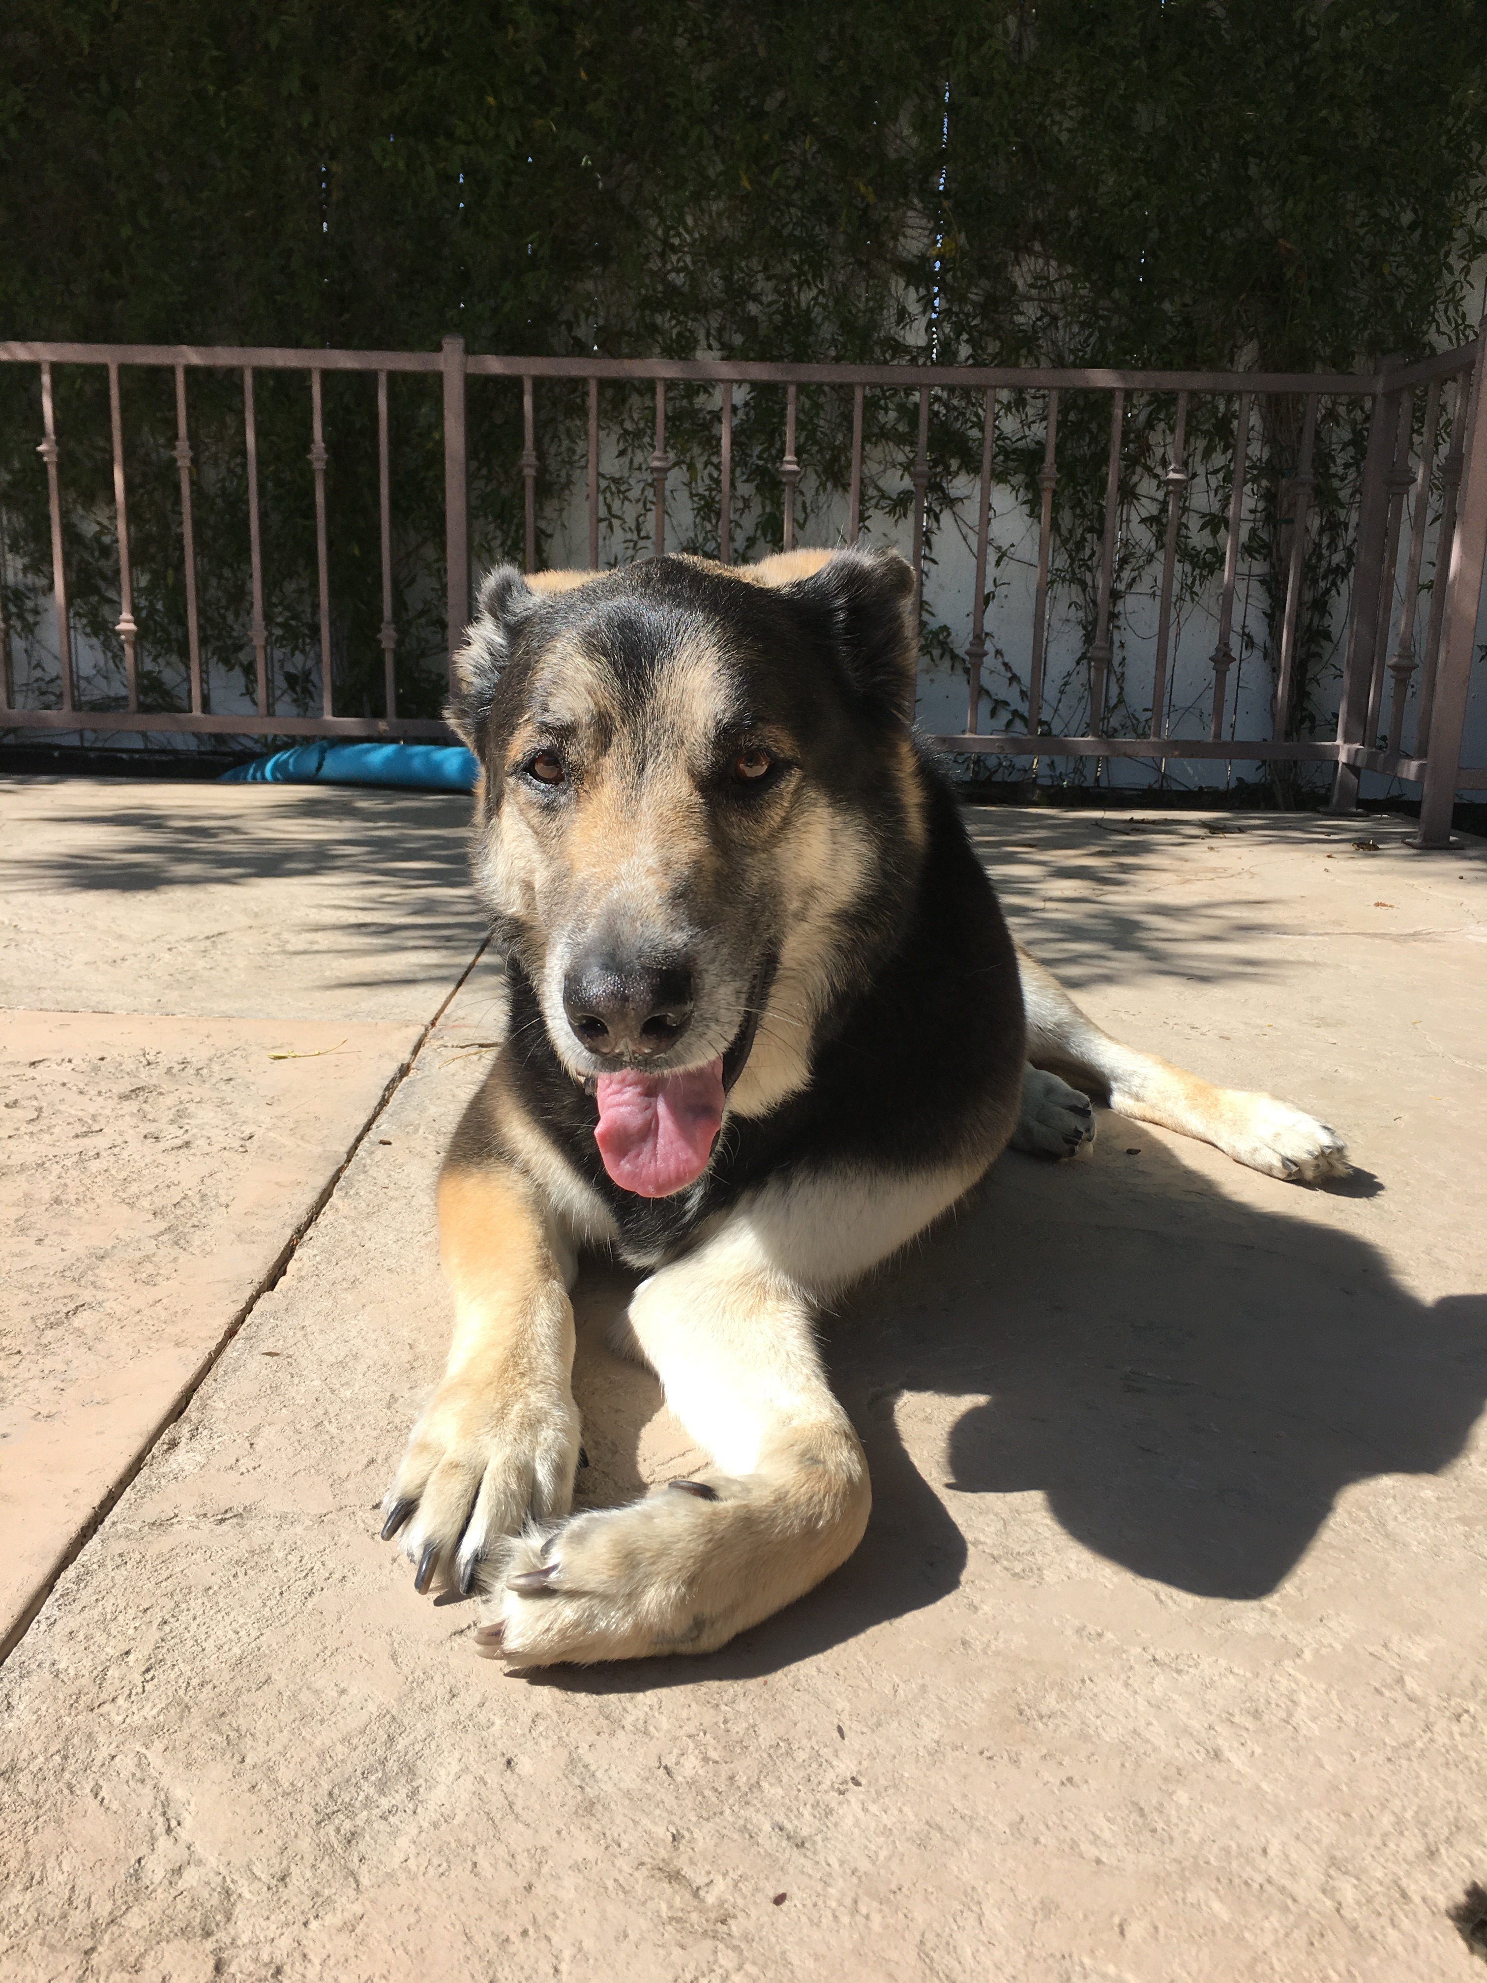
[[[744,1628],[757,1596],[728,1543],[736,1513],[714,1487],[674,1481],[555,1533],[529,1531],[506,1561],[478,1650],[508,1666],[712,1652]]]

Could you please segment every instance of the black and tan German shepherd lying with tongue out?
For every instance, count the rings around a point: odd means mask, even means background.
[[[815,1309],[1005,1144],[1088,1148],[1083,1091],[1346,1174],[1330,1128],[1118,1045],[1013,946],[914,666],[892,551],[482,587],[450,720],[510,1031],[440,1174],[454,1341],[383,1535],[416,1590],[484,1592],[514,1668],[710,1652],[853,1553],[870,1487]],[[642,1271],[625,1346],[712,1465],[569,1515],[583,1247]]]

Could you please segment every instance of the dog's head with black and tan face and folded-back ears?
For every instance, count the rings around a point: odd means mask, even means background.
[[[890,551],[773,587],[684,557],[482,587],[450,704],[484,773],[476,882],[599,1087],[601,1150],[607,1099],[615,1124],[666,1105],[646,1196],[726,1091],[751,1114],[809,1079],[896,922],[924,839],[912,591]]]

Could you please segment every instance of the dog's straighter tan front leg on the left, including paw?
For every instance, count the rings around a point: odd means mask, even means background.
[[[418,1590],[434,1578],[468,1590],[504,1537],[573,1503],[575,1257],[506,1164],[446,1166],[438,1245],[454,1341],[383,1503],[383,1535],[418,1565]]]

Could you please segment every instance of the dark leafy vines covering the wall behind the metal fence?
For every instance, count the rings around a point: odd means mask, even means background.
[[[10,0],[0,321],[36,339],[307,349],[436,347],[460,331],[476,351],[1342,369],[1467,331],[1467,278],[1487,250],[1485,75],[1479,0],[922,0],[912,14],[858,0],[829,20],[781,0]],[[73,601],[107,646],[103,383],[63,371],[57,391]],[[258,399],[287,708],[311,694],[293,656],[315,644],[307,389],[260,375]],[[761,541],[779,516],[777,399],[740,405],[736,472]],[[611,405],[623,458],[642,462],[646,395],[615,389]],[[1013,410],[999,440],[1031,508],[1039,416]],[[474,383],[470,418],[478,549],[510,551],[519,405]],[[1142,470],[1162,468],[1170,405],[1130,418],[1120,589],[1162,529]],[[581,393],[545,395],[541,420],[551,476],[577,458]],[[712,420],[700,395],[674,395],[670,448],[698,518],[716,516]],[[845,480],[847,420],[841,395],[801,395],[815,472],[803,531],[809,502]],[[1231,405],[1196,401],[1194,458],[1217,460],[1231,420]],[[1295,466],[1299,414],[1277,420],[1269,492]],[[167,700],[184,670],[171,381],[131,375],[125,422],[147,696]],[[902,514],[894,464],[912,426],[912,395],[870,397],[868,506]],[[38,432],[36,375],[0,369],[0,514],[18,573],[50,569]],[[337,704],[377,710],[369,381],[327,379],[327,438]],[[956,480],[979,464],[979,410],[938,395],[932,438],[930,520],[946,527]],[[204,637],[246,678],[236,381],[192,377],[192,440]],[[1104,444],[1104,408],[1071,405],[1055,569],[1087,617]],[[1346,581],[1358,434],[1328,446],[1303,716]],[[436,381],[393,381],[393,478],[402,712],[422,714],[442,648]],[[1271,625],[1287,553],[1275,500],[1257,525]],[[1184,585],[1198,587],[1213,535],[1188,535]],[[706,529],[694,537],[710,547]],[[18,583],[6,603],[24,631],[34,591]],[[1011,676],[1001,698],[1015,712]]]

